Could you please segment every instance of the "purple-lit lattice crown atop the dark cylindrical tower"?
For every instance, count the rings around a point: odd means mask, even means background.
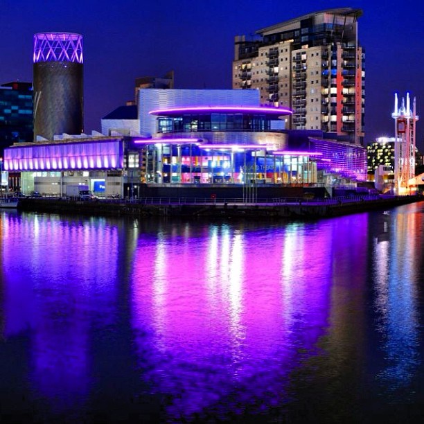
[[[82,63],[82,35],[75,33],[38,33],[34,35],[34,63]]]

